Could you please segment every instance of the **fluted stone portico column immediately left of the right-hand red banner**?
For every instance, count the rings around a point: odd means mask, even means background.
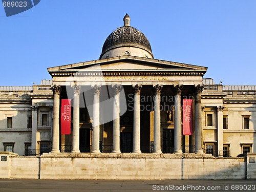
[[[183,86],[177,84],[174,86],[174,153],[181,154],[181,90]]]

